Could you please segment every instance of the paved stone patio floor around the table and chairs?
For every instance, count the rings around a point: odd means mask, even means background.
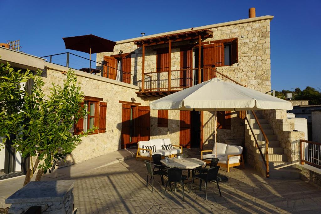
[[[92,159],[94,161],[94,159]],[[134,158],[63,179],[74,179],[74,207],[83,213],[321,213],[321,191],[299,179],[262,178],[251,167],[233,167],[221,182],[222,197],[215,183],[208,184],[207,198],[198,190],[166,193],[154,183],[146,188],[146,167]],[[59,179],[55,178],[55,179]],[[157,178],[160,182],[160,179]],[[0,191],[1,192],[1,191]]]

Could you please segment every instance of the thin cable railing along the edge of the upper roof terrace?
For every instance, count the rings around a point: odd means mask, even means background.
[[[75,70],[86,68],[89,73],[94,75],[137,85],[136,75],[108,66],[105,61],[102,61],[101,63],[96,62],[70,52],[42,56],[41,58],[47,59],[50,63],[66,66]],[[92,62],[96,63],[96,68],[91,68]]]

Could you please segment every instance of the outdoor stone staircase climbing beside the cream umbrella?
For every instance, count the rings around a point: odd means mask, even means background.
[[[294,164],[288,162],[287,155],[284,154],[284,149],[280,146],[277,136],[273,133],[273,129],[268,120],[264,118],[261,111],[256,111],[256,116],[269,140],[269,175],[270,178],[299,178],[300,171],[294,167]],[[246,125],[246,141],[250,144],[250,151],[247,155],[255,154],[254,165],[257,171],[265,175],[266,167],[262,160],[259,149],[256,147],[255,140],[249,125]],[[260,144],[260,143],[259,143]]]

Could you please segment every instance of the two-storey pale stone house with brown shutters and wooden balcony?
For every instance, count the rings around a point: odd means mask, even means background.
[[[134,148],[138,141],[157,138],[170,138],[173,145],[185,148],[212,149],[213,112],[157,111],[151,110],[149,103],[213,77],[238,82],[261,92],[270,91],[272,19],[273,16],[251,17],[126,39],[117,41],[114,52],[98,53],[96,61],[100,74],[75,70],[85,95],[84,105],[90,114],[75,124],[74,134],[92,126],[99,129],[85,137],[61,165]],[[44,91],[48,91],[52,82],[62,84],[69,69],[5,47],[0,47],[0,55],[1,62],[8,61],[16,68],[43,70]],[[284,112],[274,111],[266,117],[274,116],[269,120],[273,122],[278,115],[284,115]],[[288,126],[290,130],[291,124]],[[247,124],[240,112],[219,112],[218,142],[247,147],[252,139],[246,136],[246,130]],[[301,137],[300,134],[296,136]],[[279,135],[284,145],[295,138],[289,134]],[[248,154],[258,154],[252,147],[248,147]],[[21,161],[16,152],[11,154],[15,161],[6,166],[8,156],[2,154],[3,151],[0,151],[0,179],[7,178],[8,173],[10,176],[23,174],[23,163],[28,160]],[[250,157],[252,153],[248,155]],[[260,160],[255,159],[257,163],[253,160],[248,163],[262,165],[258,163]]]

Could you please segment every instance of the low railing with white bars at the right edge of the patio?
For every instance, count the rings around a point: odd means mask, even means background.
[[[300,140],[301,164],[321,169],[321,143]]]

